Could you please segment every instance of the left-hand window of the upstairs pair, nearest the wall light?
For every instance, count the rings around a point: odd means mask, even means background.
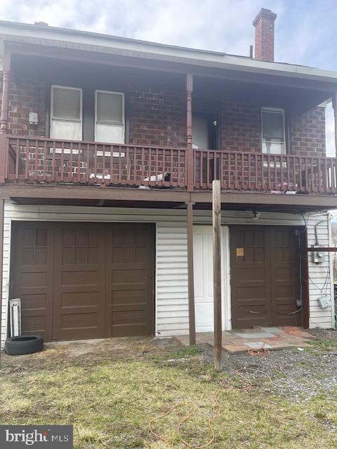
[[[51,86],[51,138],[82,139],[82,90]]]

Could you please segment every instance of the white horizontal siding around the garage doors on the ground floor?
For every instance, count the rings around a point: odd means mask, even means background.
[[[251,212],[223,211],[223,225],[303,225],[300,215],[261,213],[252,220]],[[327,214],[312,214],[308,220],[308,244],[315,243],[314,225],[326,219],[318,227],[319,243],[329,246]],[[155,222],[156,236],[156,335],[169,336],[188,333],[187,298],[187,232],[186,211],[143,208],[95,208],[80,206],[20,206],[6,201],[4,222],[4,281],[1,308],[2,341],[7,326],[9,267],[11,255],[11,222],[26,221],[72,221],[72,222]],[[194,223],[211,225],[211,213],[194,210]],[[321,309],[317,302],[331,270],[331,253],[326,262],[316,265],[309,257],[310,274],[310,327],[331,328],[333,307]],[[331,272],[331,271],[330,271]],[[315,283],[315,284],[314,284]],[[331,282],[324,292],[331,295]],[[318,287],[318,288],[317,288]]]

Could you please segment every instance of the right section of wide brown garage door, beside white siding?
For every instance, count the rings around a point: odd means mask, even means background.
[[[153,331],[153,234],[150,225],[111,225],[107,235],[107,297],[114,336]]]

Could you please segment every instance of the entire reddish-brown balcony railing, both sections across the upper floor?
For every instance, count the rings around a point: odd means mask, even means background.
[[[337,159],[7,138],[6,183],[209,190],[213,179],[224,191],[331,195]]]

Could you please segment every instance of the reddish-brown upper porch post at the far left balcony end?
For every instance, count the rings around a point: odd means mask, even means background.
[[[4,67],[2,74],[2,102],[0,112],[0,184],[4,184],[7,161],[7,129],[8,129],[8,95],[9,70],[11,67],[11,53],[8,47],[4,48]]]

